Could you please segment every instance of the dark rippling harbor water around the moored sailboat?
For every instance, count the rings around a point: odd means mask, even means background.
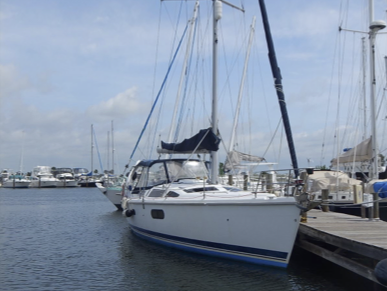
[[[0,290],[372,290],[300,250],[282,270],[144,241],[97,188],[0,188],[0,225]]]

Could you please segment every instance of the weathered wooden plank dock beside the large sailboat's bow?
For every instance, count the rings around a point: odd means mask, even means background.
[[[387,258],[385,221],[313,209],[300,223],[296,245],[382,285],[374,269]]]

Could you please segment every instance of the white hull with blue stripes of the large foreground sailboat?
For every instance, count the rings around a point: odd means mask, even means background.
[[[131,199],[133,232],[148,240],[256,264],[286,267],[298,231],[294,198],[263,201],[144,201]],[[167,199],[168,200],[168,199]],[[156,218],[152,217],[156,215]],[[162,215],[164,218],[157,218]]]

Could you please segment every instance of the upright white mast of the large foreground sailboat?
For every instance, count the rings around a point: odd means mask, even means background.
[[[214,1],[214,19],[213,19],[213,42],[212,42],[212,132],[218,135],[218,20],[222,18],[222,3]],[[216,151],[211,152],[211,182],[218,182],[218,154]]]

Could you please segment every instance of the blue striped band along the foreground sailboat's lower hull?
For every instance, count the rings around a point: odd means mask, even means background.
[[[247,263],[287,267],[286,257],[288,254],[286,252],[187,239],[145,230],[133,225],[130,227],[139,237],[168,247]]]

